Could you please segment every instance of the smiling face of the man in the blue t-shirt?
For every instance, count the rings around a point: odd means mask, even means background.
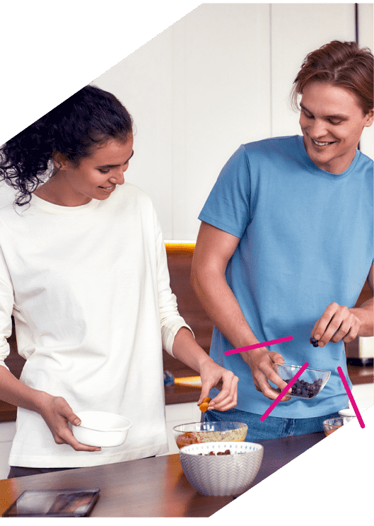
[[[310,160],[330,173],[347,170],[363,128],[373,124],[373,112],[363,115],[351,91],[320,81],[307,83],[300,106],[299,122]]]

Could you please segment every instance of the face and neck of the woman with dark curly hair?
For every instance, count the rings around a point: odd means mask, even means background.
[[[92,199],[108,199],[117,185],[124,184],[124,172],[134,153],[133,144],[132,136],[127,142],[110,139],[90,157],[81,159],[78,166],[57,153],[54,158],[57,173],[35,194],[61,206],[81,206]]]

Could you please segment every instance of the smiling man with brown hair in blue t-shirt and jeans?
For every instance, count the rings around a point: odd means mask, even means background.
[[[322,431],[349,404],[337,371],[348,377],[344,342],[374,334],[374,300],[354,308],[366,279],[373,288],[374,163],[357,150],[373,124],[373,54],[356,42],[322,46],[303,62],[295,104],[298,95],[302,135],[238,148],[201,211],[192,262],[215,325],[210,356],[240,380],[235,409],[205,418],[247,423],[250,441]],[[287,385],[274,362],[332,373],[315,398],[285,395],[262,421]]]

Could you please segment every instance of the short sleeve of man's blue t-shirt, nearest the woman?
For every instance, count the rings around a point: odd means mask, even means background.
[[[221,170],[199,215],[205,221],[237,238],[250,223],[250,166],[240,146]]]

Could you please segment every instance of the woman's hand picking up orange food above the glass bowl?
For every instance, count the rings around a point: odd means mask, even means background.
[[[217,411],[227,411],[235,407],[238,401],[238,376],[230,370],[218,366],[211,358],[206,360],[200,366],[201,378],[201,394],[199,402],[200,405],[204,398],[208,397],[209,391],[218,383],[222,382],[222,389],[217,396],[209,402],[208,409],[216,409]]]

